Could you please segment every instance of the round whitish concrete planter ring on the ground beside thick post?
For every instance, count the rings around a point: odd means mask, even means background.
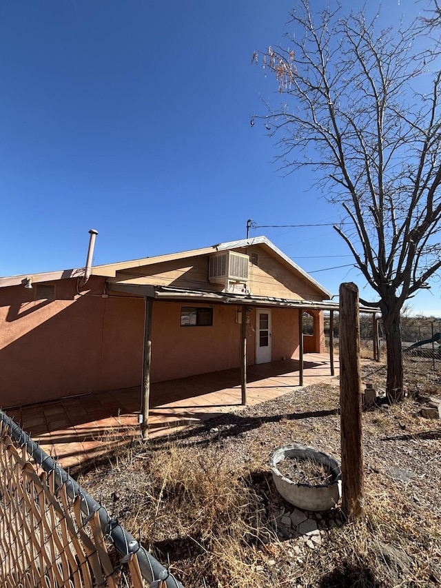
[[[311,485],[285,478],[278,469],[284,459],[311,460],[323,465],[331,474],[329,484]],[[337,460],[307,445],[284,445],[271,452],[269,466],[278,492],[287,502],[303,510],[322,511],[336,506],[342,491],[341,469]]]

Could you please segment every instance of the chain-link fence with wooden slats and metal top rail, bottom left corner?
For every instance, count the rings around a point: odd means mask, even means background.
[[[0,411],[0,585],[183,588]]]

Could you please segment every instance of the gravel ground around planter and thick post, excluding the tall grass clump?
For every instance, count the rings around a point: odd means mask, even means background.
[[[440,380],[438,376],[426,379],[430,381],[429,392],[433,394]],[[384,365],[372,362],[363,365],[363,381],[381,387],[384,380]],[[430,570],[436,571],[441,565],[440,420],[420,416],[418,394],[424,392],[424,377],[418,379],[410,375],[407,384],[413,394],[409,394],[403,403],[376,405],[363,412],[367,510],[370,520],[378,520],[378,529],[389,529],[389,525],[393,529],[396,525],[397,531],[382,530],[373,534],[376,537],[378,533],[374,551],[377,555],[383,554],[380,560],[385,562],[384,570],[380,569],[380,564],[377,569],[372,565],[363,572],[367,574],[367,582],[360,583],[360,586],[386,587],[389,585],[384,580],[387,574],[391,574],[391,586],[393,582],[430,586],[434,574]],[[103,504],[118,514],[122,525],[130,525],[134,511],[139,511],[139,497],[147,484],[146,464],[156,452],[173,444],[185,449],[190,462],[194,460],[195,464],[199,463],[201,452],[214,452],[219,462],[252,485],[265,509],[268,526],[280,541],[266,540],[267,551],[260,553],[260,560],[253,564],[256,573],[262,572],[274,583],[262,580],[256,586],[281,585],[282,578],[284,585],[293,587],[353,585],[348,582],[351,574],[356,574],[354,577],[357,578],[360,576],[357,567],[361,565],[360,556],[354,564],[356,567],[352,568],[353,564],[347,560],[349,556],[341,551],[342,546],[330,543],[332,534],[350,531],[345,531],[340,509],[337,507],[325,513],[300,511],[285,503],[272,483],[269,454],[276,447],[291,443],[309,445],[340,460],[338,386],[314,385],[296,389],[274,400],[187,427],[170,437],[139,443],[131,447],[125,461],[108,456],[105,463],[97,463],[93,471],[83,472],[80,481],[92,496],[101,496]],[[299,525],[302,524],[306,532],[300,532]],[[172,518],[164,518],[155,540],[161,543],[170,539],[173,528]],[[136,535],[136,529],[128,530]],[[404,539],[405,547],[402,546]],[[403,549],[407,551],[410,563],[402,554]],[[307,562],[311,563],[312,552],[316,562],[314,569],[308,572],[309,583],[305,583],[305,566]],[[178,558],[178,552],[170,556],[173,565],[173,556]],[[337,570],[339,561],[340,571]],[[422,566],[418,567],[418,573],[413,569],[416,565]],[[320,577],[319,581],[317,578]],[[329,578],[329,582],[323,578]],[[185,578],[181,580],[185,583]],[[372,580],[370,584],[368,580]],[[191,584],[187,581],[188,585]]]

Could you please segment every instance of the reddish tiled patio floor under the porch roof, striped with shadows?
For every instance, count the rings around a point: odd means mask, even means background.
[[[331,376],[327,354],[305,354],[303,385],[338,384]],[[298,389],[298,361],[276,361],[247,367],[247,403],[255,405]],[[198,423],[217,414],[243,408],[240,369],[155,383],[150,392],[150,438],[170,434],[177,427]],[[139,435],[139,387],[62,398],[7,409],[41,448],[73,467]]]

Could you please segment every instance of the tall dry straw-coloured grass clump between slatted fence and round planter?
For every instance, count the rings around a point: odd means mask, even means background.
[[[262,585],[256,545],[268,536],[265,509],[242,472],[212,448],[176,445],[155,452],[147,469],[130,525],[140,527],[153,554],[164,560],[173,553],[174,573],[187,586],[216,586],[220,578],[225,587]]]

